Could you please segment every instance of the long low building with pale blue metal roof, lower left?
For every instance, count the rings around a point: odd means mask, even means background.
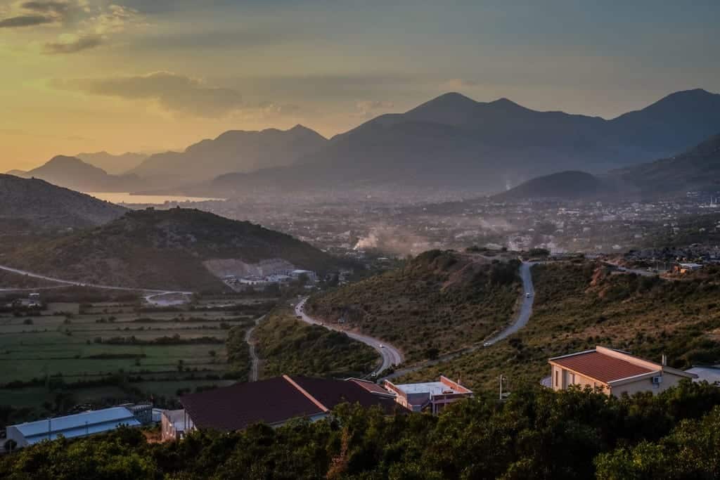
[[[60,435],[65,438],[84,437],[114,430],[121,425],[139,427],[141,424],[130,409],[112,407],[10,425],[7,427],[7,440],[14,440],[17,448],[22,448],[42,440],[55,440]]]

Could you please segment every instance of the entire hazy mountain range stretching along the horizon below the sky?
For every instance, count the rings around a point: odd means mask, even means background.
[[[403,114],[380,115],[330,140],[302,125],[231,130],[184,152],[150,155],[123,176],[70,172],[77,166],[69,163],[66,173],[36,169],[32,175],[85,191],[213,197],[367,186],[490,193],[549,173],[601,173],[668,158],[719,131],[720,95],[701,89],[678,91],[614,119],[539,112],[508,99],[480,102],[449,93]],[[112,172],[118,172],[117,158],[85,158],[113,163]],[[81,182],[81,176],[87,180]]]

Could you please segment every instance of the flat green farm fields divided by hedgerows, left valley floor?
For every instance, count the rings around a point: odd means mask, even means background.
[[[243,338],[268,302],[205,300],[164,310],[51,303],[41,312],[0,312],[0,409],[25,409],[26,420],[78,404],[152,398],[172,407],[179,394],[244,381],[248,353],[236,347],[230,363],[226,340],[230,332]]]

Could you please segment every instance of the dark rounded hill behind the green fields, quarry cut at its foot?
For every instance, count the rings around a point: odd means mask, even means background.
[[[143,210],[93,230],[18,248],[5,262],[88,284],[219,289],[204,261],[279,258],[325,271],[335,259],[289,235],[194,209]]]

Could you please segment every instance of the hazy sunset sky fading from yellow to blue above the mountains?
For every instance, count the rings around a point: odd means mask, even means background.
[[[0,0],[0,171],[330,137],[447,91],[611,118],[720,91],[717,0]]]

